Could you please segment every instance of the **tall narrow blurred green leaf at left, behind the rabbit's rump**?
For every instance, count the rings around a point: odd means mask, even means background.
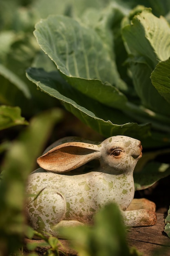
[[[26,180],[40,155],[53,125],[62,112],[53,109],[31,120],[8,151],[0,182],[0,252],[9,255],[22,245],[25,229],[24,201]]]

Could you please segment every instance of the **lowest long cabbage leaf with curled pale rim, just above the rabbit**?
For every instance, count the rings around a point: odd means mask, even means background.
[[[129,118],[122,112],[95,100],[92,102],[66,83],[58,72],[47,73],[42,69],[30,68],[27,70],[27,77],[42,91],[62,101],[66,109],[81,121],[106,137],[119,134],[141,138],[149,135],[149,125],[127,123]]]

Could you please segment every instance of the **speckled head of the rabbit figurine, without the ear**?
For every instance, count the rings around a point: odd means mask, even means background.
[[[142,153],[141,142],[127,136],[113,136],[101,143],[100,164],[105,172],[133,171]]]

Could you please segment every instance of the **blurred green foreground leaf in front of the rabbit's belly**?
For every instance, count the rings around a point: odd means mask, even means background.
[[[62,234],[71,239],[71,246],[79,256],[129,256],[126,229],[116,204],[106,205],[95,215],[94,225],[62,228]]]

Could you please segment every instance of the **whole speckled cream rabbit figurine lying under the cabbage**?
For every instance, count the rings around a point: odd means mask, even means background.
[[[154,211],[126,211],[134,197],[133,171],[141,150],[139,140],[121,135],[102,143],[77,137],[56,141],[37,159],[41,168],[29,175],[26,213],[31,226],[60,238],[60,227],[93,223],[94,214],[109,202],[119,205],[125,225],[155,225]],[[99,167],[79,174],[79,167],[94,159]]]

